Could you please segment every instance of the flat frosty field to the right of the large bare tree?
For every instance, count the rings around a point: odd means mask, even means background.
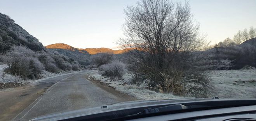
[[[221,98],[256,98],[256,69],[209,71],[214,96]]]

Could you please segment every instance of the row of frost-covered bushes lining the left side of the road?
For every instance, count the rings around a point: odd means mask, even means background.
[[[79,70],[79,63],[57,52],[34,52],[23,46],[13,46],[1,56],[7,64],[5,73],[23,79],[38,79],[44,70],[58,73],[59,71]]]

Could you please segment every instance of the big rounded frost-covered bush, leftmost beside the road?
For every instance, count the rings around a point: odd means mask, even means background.
[[[42,63],[34,57],[34,54],[35,52],[26,47],[11,47],[4,56],[4,60],[9,66],[5,71],[12,75],[21,76],[22,78],[38,78],[39,74],[45,68]]]

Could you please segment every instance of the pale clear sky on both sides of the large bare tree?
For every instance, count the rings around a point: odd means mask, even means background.
[[[136,1],[0,0],[0,12],[44,46],[66,43],[77,48],[115,48],[114,42],[123,35],[124,7]],[[190,0],[190,7],[211,44],[232,38],[244,28],[256,28],[256,0]]]

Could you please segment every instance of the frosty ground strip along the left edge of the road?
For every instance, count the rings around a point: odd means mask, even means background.
[[[4,69],[6,67],[7,65],[0,65],[0,89],[21,86],[21,85],[36,81],[36,80],[29,80],[29,79],[24,80],[20,76],[14,76],[8,73],[4,73]],[[77,72],[77,71],[60,71],[59,73],[51,73],[43,70],[43,72],[40,74],[40,79],[51,77],[51,76],[57,76],[60,74],[73,73],[73,72]]]

